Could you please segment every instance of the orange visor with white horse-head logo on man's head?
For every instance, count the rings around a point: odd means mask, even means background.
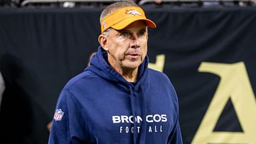
[[[134,21],[139,20],[145,21],[148,27],[157,27],[153,21],[147,19],[143,9],[140,7],[123,7],[121,9],[117,9],[117,11],[114,11],[110,15],[107,15],[107,17],[101,21],[101,33],[109,27],[121,30]]]

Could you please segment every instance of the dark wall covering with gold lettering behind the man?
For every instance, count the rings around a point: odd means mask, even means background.
[[[101,10],[0,9],[0,143],[47,143],[61,89],[97,51]],[[149,61],[175,86],[184,143],[256,143],[256,8],[145,10],[157,23]]]

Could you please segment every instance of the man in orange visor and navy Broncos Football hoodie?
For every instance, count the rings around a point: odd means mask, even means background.
[[[65,85],[49,143],[182,143],[177,95],[166,75],[147,68],[147,27],[134,2],[101,13],[91,65]]]

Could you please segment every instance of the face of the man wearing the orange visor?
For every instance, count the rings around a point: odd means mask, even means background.
[[[114,69],[137,69],[147,55],[147,27],[144,21],[135,21],[107,35],[108,61]]]

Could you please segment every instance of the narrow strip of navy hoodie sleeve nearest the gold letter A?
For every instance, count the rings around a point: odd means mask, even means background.
[[[171,134],[168,137],[168,144],[183,144],[178,118]]]

